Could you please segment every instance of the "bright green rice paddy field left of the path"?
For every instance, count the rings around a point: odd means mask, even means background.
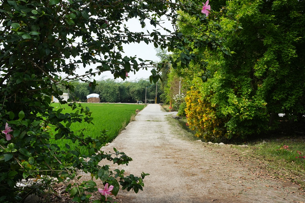
[[[64,108],[62,113],[70,113],[72,109],[68,105],[60,105],[59,103],[53,103],[53,107]],[[108,130],[107,140],[112,141],[120,131],[126,127],[132,116],[135,116],[136,110],[142,110],[145,105],[138,104],[121,104],[121,103],[82,103],[83,107],[89,107],[92,111],[91,117],[93,117],[93,124],[84,123],[72,123],[70,128],[72,131],[78,131],[86,128],[85,135],[95,138],[100,135],[100,131]],[[76,111],[76,110],[74,110]],[[53,135],[56,134],[55,128],[51,128]],[[52,143],[56,143],[61,149],[65,150],[65,144],[70,145],[72,149],[77,143],[72,143],[70,140],[59,139],[52,140]]]

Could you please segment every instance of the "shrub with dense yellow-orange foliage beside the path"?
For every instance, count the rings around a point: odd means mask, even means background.
[[[210,103],[210,96],[203,96],[199,89],[191,87],[185,97],[185,113],[189,128],[197,130],[197,137],[215,141],[226,137],[226,121],[217,117],[216,107]]]

